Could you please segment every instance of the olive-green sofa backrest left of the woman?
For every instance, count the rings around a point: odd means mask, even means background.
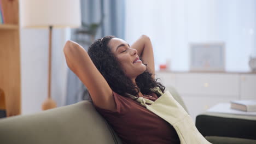
[[[0,119],[0,143],[121,143],[90,101]]]

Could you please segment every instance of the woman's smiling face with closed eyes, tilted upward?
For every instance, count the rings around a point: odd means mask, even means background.
[[[130,45],[123,39],[113,38],[109,41],[109,46],[121,63],[125,74],[130,77],[130,79],[136,79],[138,75],[146,70],[146,65],[139,60],[137,50],[131,49]]]

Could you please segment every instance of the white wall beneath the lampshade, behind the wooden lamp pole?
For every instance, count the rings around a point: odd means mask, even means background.
[[[53,30],[51,95],[57,106],[65,104],[67,65],[63,45],[66,29]],[[21,111],[39,112],[48,96],[48,29],[21,29]]]

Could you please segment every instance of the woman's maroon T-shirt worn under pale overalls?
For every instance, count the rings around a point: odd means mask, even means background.
[[[108,121],[123,143],[180,143],[176,130],[164,119],[155,115],[136,100],[122,97],[113,92],[117,109],[114,111],[96,110]],[[144,95],[144,98],[155,101],[155,93]]]

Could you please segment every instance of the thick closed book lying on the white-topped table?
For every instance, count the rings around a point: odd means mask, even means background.
[[[256,100],[232,100],[231,109],[256,112]]]

